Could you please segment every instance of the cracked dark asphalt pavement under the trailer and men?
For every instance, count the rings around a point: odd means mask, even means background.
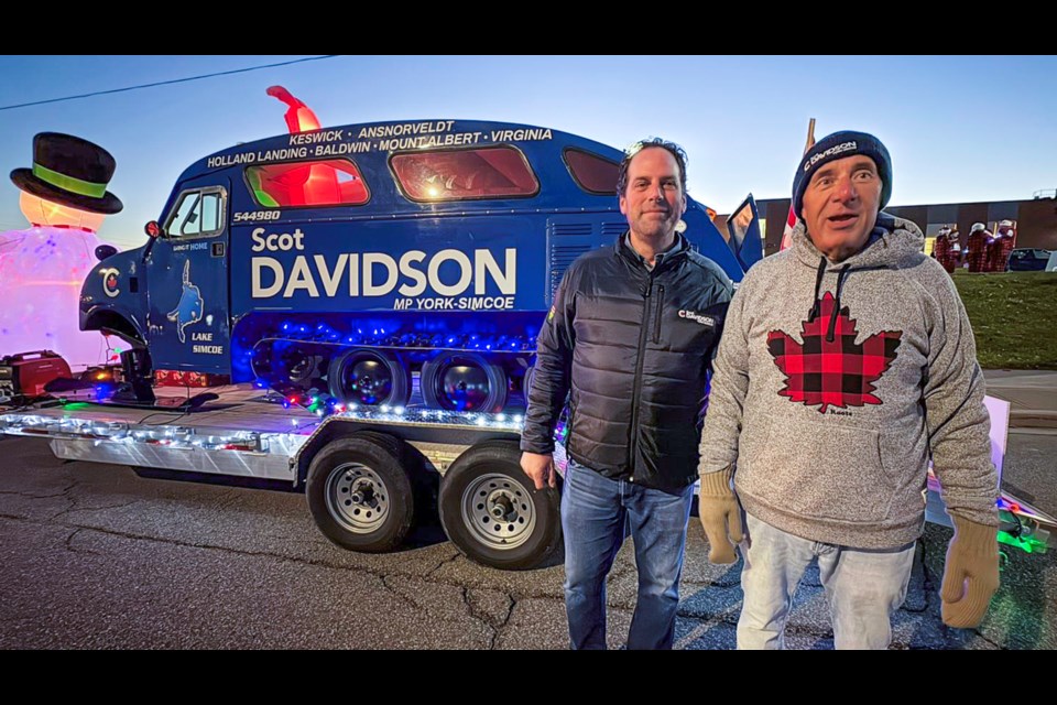
[[[64,463],[43,440],[0,441],[0,648],[565,649],[560,565],[503,572],[469,562],[438,527],[405,550],[356,554],[316,529],[302,495],[138,477]],[[1057,512],[1057,435],[1010,435],[1006,481]],[[979,629],[942,625],[950,530],[929,524],[895,649],[1057,648],[1057,552],[1009,551]],[[631,545],[609,582],[609,643],[635,599]],[[713,566],[691,519],[678,649],[730,649],[741,564]],[[797,593],[796,649],[832,647],[817,571]]]

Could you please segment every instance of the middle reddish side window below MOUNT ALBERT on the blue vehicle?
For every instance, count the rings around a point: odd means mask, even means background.
[[[416,150],[393,154],[390,166],[401,191],[411,200],[523,198],[540,192],[540,182],[525,155],[509,145]]]

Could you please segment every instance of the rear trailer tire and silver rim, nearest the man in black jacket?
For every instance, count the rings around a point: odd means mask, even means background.
[[[558,491],[535,489],[520,459],[516,442],[486,441],[440,480],[440,523],[471,561],[523,571],[546,562],[562,543]]]

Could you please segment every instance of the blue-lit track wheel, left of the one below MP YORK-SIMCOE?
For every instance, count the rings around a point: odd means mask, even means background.
[[[395,352],[352,348],[330,362],[330,393],[345,403],[403,406],[411,399],[411,377]]]

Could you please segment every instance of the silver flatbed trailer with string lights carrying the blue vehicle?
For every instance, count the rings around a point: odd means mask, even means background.
[[[519,464],[523,408],[353,405],[320,416],[250,384],[211,390],[217,399],[186,410],[185,390],[157,391],[172,411],[73,398],[0,408],[0,433],[47,438],[63,459],[303,491],[323,533],[355,551],[395,549],[434,508],[459,551],[484,565],[537,567],[560,544],[559,489],[536,490]],[[926,519],[950,525],[931,474],[928,489]],[[999,508],[1000,542],[1029,553],[1054,545],[1054,518],[1006,492]]]

